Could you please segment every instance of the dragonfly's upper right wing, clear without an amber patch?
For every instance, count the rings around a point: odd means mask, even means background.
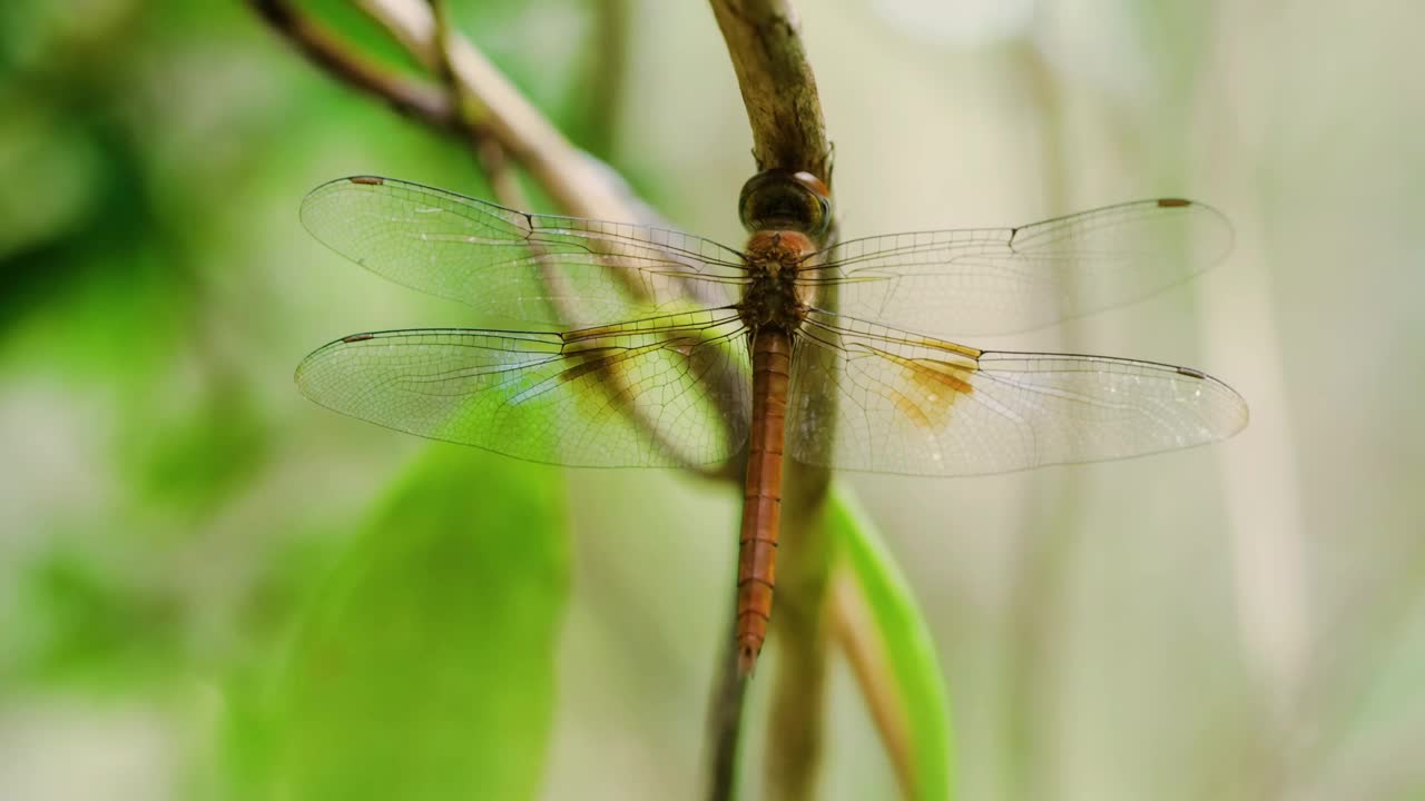
[[[831,311],[942,336],[1029,331],[1181,284],[1231,249],[1217,210],[1184,200],[1112,205],[1033,225],[926,231],[828,248],[812,282]]]

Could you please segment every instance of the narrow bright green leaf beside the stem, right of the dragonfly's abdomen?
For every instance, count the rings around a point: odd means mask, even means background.
[[[849,493],[834,487],[826,524],[866,601],[893,690],[909,728],[915,798],[950,798],[950,724],[940,666],[925,617],[871,522]]]

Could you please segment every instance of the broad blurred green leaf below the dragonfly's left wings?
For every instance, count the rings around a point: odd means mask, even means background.
[[[567,594],[563,492],[549,467],[425,453],[294,644],[276,797],[536,795]]]

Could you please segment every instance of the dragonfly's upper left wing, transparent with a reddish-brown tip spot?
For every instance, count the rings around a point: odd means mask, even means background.
[[[302,202],[338,254],[492,316],[580,326],[735,299],[741,255],[641,225],[524,214],[392,178],[339,178]]]

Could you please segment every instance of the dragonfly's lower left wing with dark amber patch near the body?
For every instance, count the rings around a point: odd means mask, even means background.
[[[388,428],[557,465],[707,465],[747,442],[750,366],[734,312],[569,334],[346,336],[296,371],[312,400]]]

